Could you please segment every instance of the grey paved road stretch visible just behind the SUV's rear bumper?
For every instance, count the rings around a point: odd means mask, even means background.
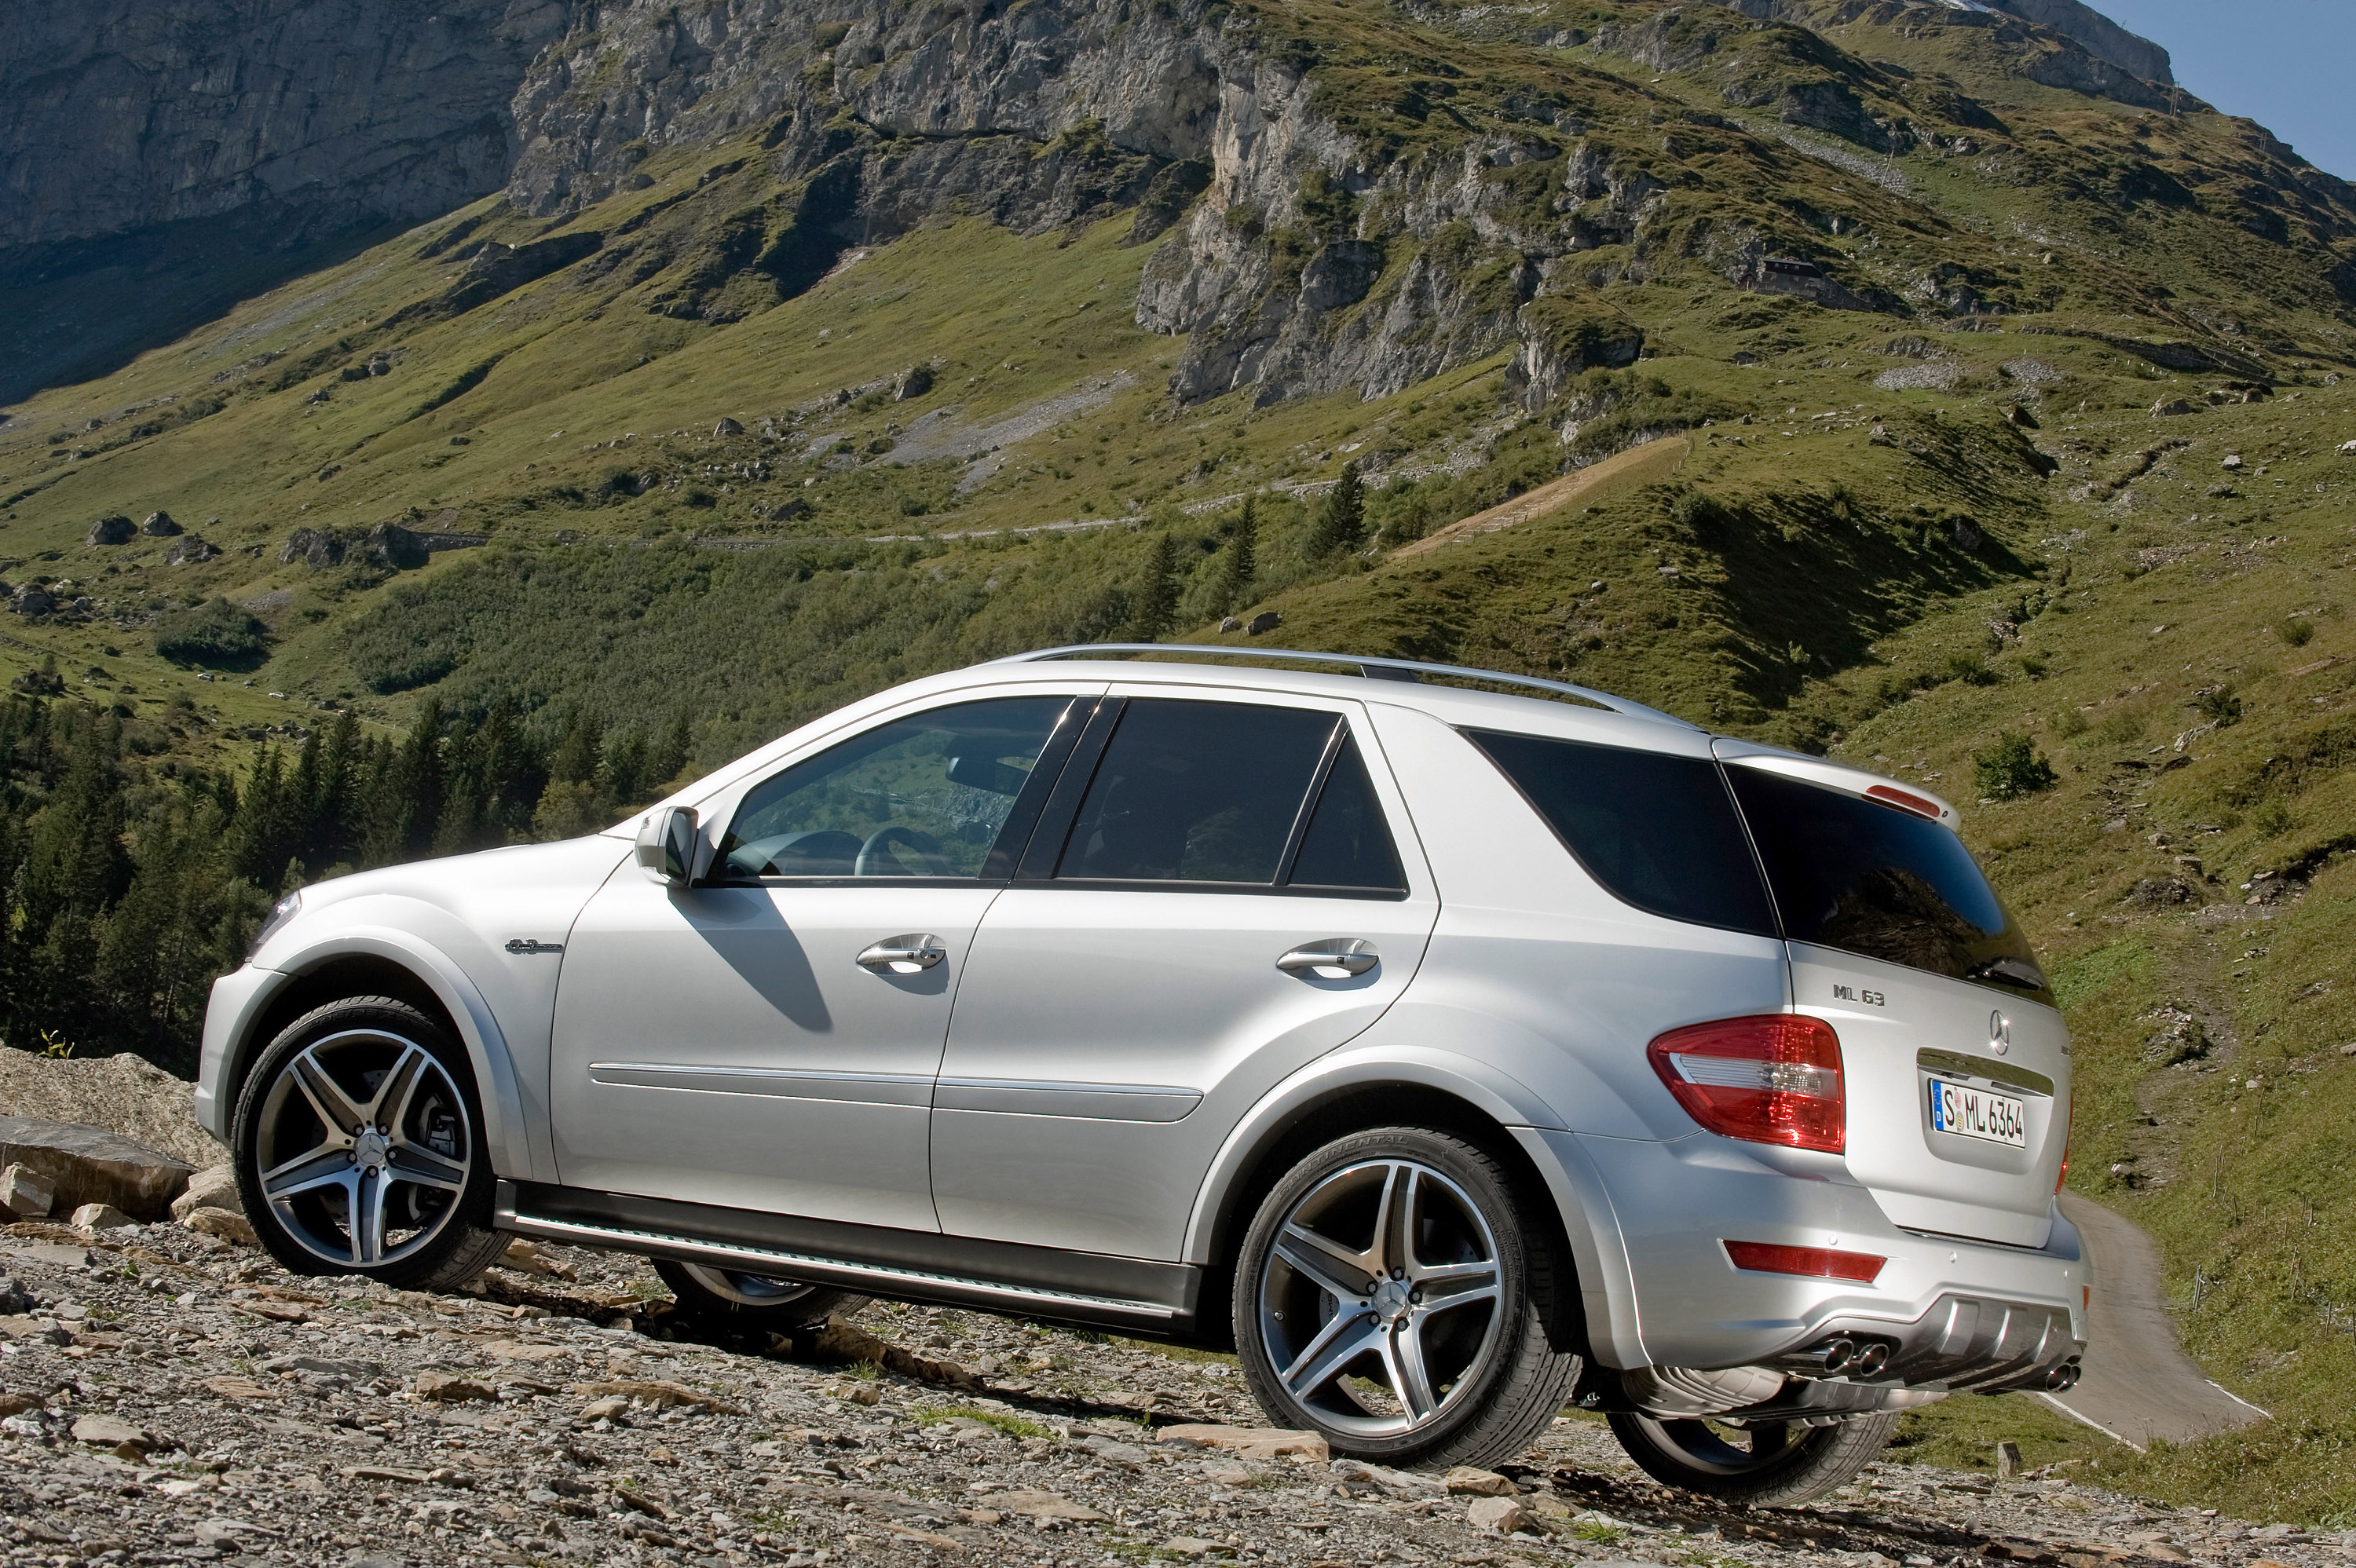
[[[2177,1344],[2151,1236],[2073,1191],[2062,1194],[2062,1212],[2094,1262],[2092,1340],[2085,1380],[2045,1398],[2135,1448],[2158,1439],[2189,1443],[2266,1420],[2264,1410],[2210,1382]]]

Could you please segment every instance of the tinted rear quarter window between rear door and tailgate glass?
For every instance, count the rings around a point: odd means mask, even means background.
[[[1718,763],[1536,735],[1468,735],[1616,897],[1670,921],[1774,935]]]

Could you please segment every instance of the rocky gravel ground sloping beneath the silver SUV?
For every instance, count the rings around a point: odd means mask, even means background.
[[[280,1274],[174,1224],[0,1229],[7,1561],[1906,1563],[2340,1568],[2356,1537],[1875,1464],[1816,1507],[1663,1490],[1590,1420],[1503,1474],[1253,1429],[1235,1368],[872,1307],[716,1344],[653,1271],[540,1250],[464,1295]],[[528,1260],[523,1260],[528,1262]],[[1293,1453],[1279,1453],[1291,1448]]]

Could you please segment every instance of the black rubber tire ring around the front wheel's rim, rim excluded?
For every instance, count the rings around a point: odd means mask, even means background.
[[[262,1104],[269,1099],[271,1083],[276,1083],[297,1052],[323,1036],[351,1029],[370,1029],[410,1041],[450,1074],[450,1083],[457,1085],[459,1104],[466,1111],[466,1149],[471,1154],[466,1189],[457,1196],[457,1212],[450,1215],[441,1234],[417,1253],[377,1267],[335,1264],[318,1257],[285,1234],[278,1212],[262,1196]],[[245,1203],[254,1236],[287,1274],[356,1274],[389,1285],[408,1285],[436,1274],[459,1248],[481,1248],[481,1236],[490,1229],[497,1175],[490,1168],[490,1151],[483,1144],[483,1102],[474,1085],[474,1067],[466,1062],[464,1048],[443,1026],[417,1008],[389,996],[335,1001],[313,1008],[278,1031],[278,1038],[254,1059],[252,1071],[245,1074],[245,1083],[238,1088],[238,1109],[231,1118],[231,1158],[238,1175],[238,1198]]]

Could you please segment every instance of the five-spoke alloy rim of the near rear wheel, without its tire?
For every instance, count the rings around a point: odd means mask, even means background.
[[[1284,1391],[1350,1436],[1432,1424],[1498,1344],[1503,1264],[1463,1187],[1362,1161],[1284,1215],[1260,1271],[1260,1342]]]

